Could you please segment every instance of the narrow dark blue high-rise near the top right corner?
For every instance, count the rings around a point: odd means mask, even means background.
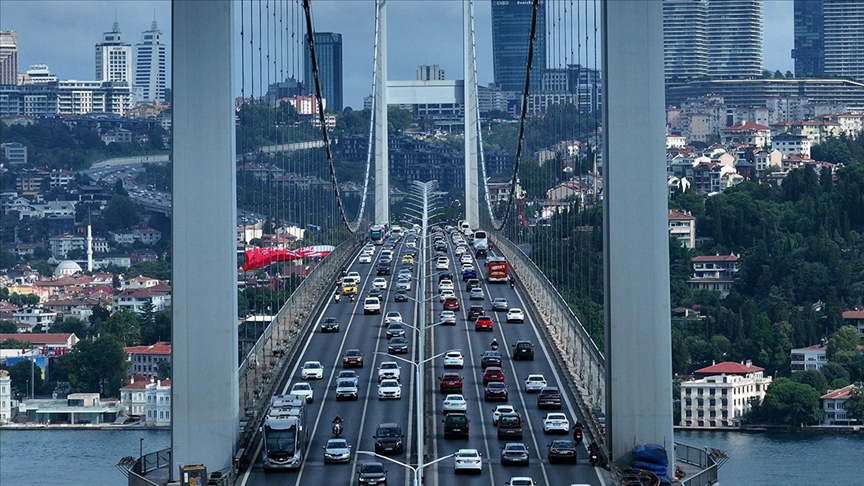
[[[825,72],[823,0],[795,0],[795,76],[820,76]]]

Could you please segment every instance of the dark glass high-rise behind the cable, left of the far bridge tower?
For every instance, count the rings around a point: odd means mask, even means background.
[[[315,32],[315,57],[318,60],[318,79],[321,82],[321,95],[327,106],[334,112],[342,111],[342,34],[335,32]],[[312,74],[312,56],[306,44],[306,89],[315,92],[315,78]]]

